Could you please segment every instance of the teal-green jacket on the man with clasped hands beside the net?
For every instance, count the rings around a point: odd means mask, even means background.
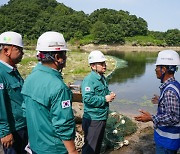
[[[110,94],[105,77],[91,71],[81,85],[84,103],[83,117],[90,120],[107,120],[109,103],[105,96]]]

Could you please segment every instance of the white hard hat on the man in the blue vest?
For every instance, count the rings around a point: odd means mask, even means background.
[[[174,50],[159,52],[155,65],[180,65],[179,54]]]

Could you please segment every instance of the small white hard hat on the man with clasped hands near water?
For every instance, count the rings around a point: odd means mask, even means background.
[[[106,58],[104,54],[99,50],[91,51],[88,57],[89,64],[91,63],[97,63],[97,62],[104,62],[106,61]]]

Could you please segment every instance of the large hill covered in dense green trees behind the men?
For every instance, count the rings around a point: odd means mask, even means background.
[[[21,33],[25,40],[36,40],[53,30],[63,33],[66,40],[88,38],[92,43],[119,44],[124,44],[126,37],[149,32],[143,18],[127,11],[98,9],[85,14],[56,0],[10,0],[0,7],[0,33],[9,30]]]

